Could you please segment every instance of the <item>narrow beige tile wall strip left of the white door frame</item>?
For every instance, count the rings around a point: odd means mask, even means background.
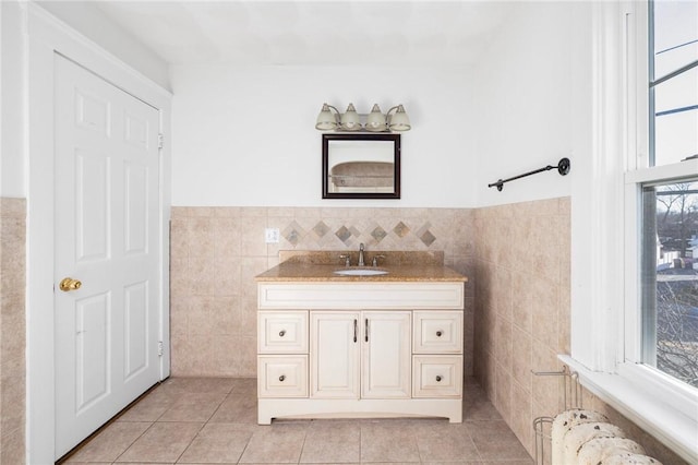
[[[25,425],[24,199],[0,199],[0,463],[23,464]]]

